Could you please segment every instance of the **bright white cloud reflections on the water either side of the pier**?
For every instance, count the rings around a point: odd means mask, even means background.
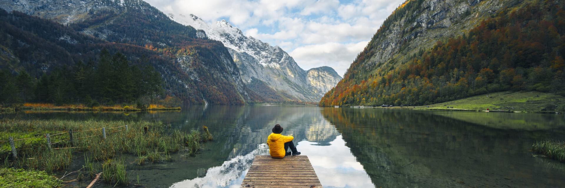
[[[324,187],[375,187],[350,148],[345,146],[341,135],[327,146],[301,141],[297,148],[302,155],[308,156]],[[171,187],[240,187],[254,156],[267,154],[268,147],[262,144],[247,155],[239,155],[219,167],[209,168],[204,177],[177,182]]]

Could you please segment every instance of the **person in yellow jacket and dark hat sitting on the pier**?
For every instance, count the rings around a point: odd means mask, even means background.
[[[286,155],[300,155],[300,152],[294,147],[292,135],[282,135],[282,127],[277,124],[273,127],[273,133],[267,138],[267,145],[269,145],[269,154],[272,158],[282,159]],[[290,147],[291,152],[286,152],[286,148]]]

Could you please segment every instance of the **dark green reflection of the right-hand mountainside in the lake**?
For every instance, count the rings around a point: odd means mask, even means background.
[[[562,168],[539,165],[529,151],[536,139],[563,138],[563,125],[525,131],[428,111],[322,112],[377,187],[565,187],[565,174],[558,170]],[[538,115],[522,118],[530,116]],[[545,123],[559,118],[551,116]]]

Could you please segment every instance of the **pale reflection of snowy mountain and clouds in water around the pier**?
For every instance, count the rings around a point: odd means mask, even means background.
[[[209,168],[204,177],[177,182],[171,187],[239,187],[254,155],[268,154],[264,143],[275,124],[284,127],[283,134],[295,137],[299,151],[308,155],[324,187],[373,187],[340,133],[321,115],[320,108],[245,107],[239,117],[236,129],[225,135],[228,140],[236,141],[228,159],[218,167]],[[214,147],[207,146],[211,150]]]

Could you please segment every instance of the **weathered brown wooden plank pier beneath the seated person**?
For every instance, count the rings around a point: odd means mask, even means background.
[[[284,159],[257,155],[241,187],[321,188],[322,186],[306,155],[286,156]]]

